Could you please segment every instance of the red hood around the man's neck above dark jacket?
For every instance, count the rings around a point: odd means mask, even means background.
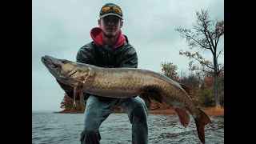
[[[124,42],[126,42],[125,36],[122,34],[122,30],[119,30],[118,34],[118,42],[114,45],[113,48],[116,48],[118,46],[121,46]],[[102,28],[101,27],[94,27],[93,29],[90,30],[90,37],[93,38],[94,42],[102,46],[103,45],[103,40],[102,40]]]

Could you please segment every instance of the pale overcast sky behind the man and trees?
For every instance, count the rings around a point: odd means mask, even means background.
[[[224,18],[224,0],[32,0],[32,110],[62,110],[64,91],[41,57],[75,61],[78,49],[92,41],[90,30],[106,2],[122,8],[122,33],[137,50],[138,68],[155,72],[161,72],[161,62],[188,70],[189,59],[178,54],[187,50],[186,40],[174,29],[194,23],[195,11]]]

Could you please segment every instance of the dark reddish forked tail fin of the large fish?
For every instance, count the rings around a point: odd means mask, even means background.
[[[195,124],[197,126],[197,131],[198,131],[198,137],[200,141],[204,144],[205,143],[205,126],[207,124],[211,124],[212,122],[210,121],[210,118],[206,113],[204,113],[202,110],[200,110],[200,117],[199,118],[194,118]]]

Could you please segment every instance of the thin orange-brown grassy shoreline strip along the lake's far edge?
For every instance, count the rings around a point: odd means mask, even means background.
[[[216,107],[202,107],[200,108],[202,111],[204,111],[207,115],[210,116],[224,116],[224,107],[216,108]],[[60,112],[54,112],[58,114],[83,114],[84,111],[82,110],[76,110],[76,111],[60,111]],[[113,113],[125,113],[125,111],[120,110],[116,111],[114,110]],[[164,110],[149,110],[149,114],[176,114],[174,109],[164,109]]]

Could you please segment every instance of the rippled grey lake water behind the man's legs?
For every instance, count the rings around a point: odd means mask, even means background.
[[[78,144],[84,114],[32,113],[32,144]],[[210,116],[205,127],[206,143],[224,143],[224,117]],[[201,143],[194,119],[184,128],[177,115],[149,114],[149,143]],[[127,114],[110,114],[100,127],[101,144],[131,143]]]

